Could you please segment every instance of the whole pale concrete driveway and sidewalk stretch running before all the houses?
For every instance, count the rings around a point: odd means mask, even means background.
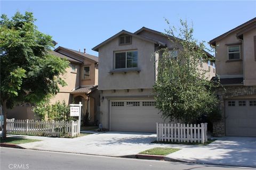
[[[73,139],[17,136],[43,140],[19,145],[28,149],[103,156],[132,156],[154,147],[172,147],[181,150],[167,157],[188,162],[256,167],[255,137],[222,137],[210,145],[197,146],[150,143],[156,140],[156,134],[135,132],[96,133]]]

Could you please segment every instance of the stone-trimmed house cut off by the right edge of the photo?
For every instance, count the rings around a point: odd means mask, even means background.
[[[222,120],[214,134],[256,137],[256,18],[210,41],[215,47]]]

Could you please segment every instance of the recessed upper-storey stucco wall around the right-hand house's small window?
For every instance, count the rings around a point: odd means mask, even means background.
[[[231,33],[220,41],[216,41],[216,73],[218,75],[242,75],[243,74],[243,53],[241,53],[240,61],[228,61],[228,46],[227,44],[241,43],[236,38],[235,33]],[[241,48],[242,49],[242,48]]]

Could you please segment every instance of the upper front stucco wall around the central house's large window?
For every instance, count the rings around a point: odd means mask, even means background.
[[[118,37],[99,48],[99,90],[110,89],[146,89],[152,88],[155,82],[155,66],[152,54],[154,43],[132,37],[131,45],[119,46]],[[122,50],[138,50],[137,72],[114,73],[114,52]]]

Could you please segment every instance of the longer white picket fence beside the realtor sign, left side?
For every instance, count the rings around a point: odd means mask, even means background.
[[[6,132],[55,137],[77,137],[80,134],[78,121],[6,120]]]

